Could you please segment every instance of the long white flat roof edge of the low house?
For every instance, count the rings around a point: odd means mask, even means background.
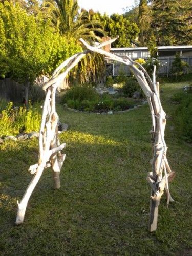
[[[192,50],[192,46],[158,46],[158,50]],[[148,47],[122,47],[122,48],[111,48],[110,51],[142,51],[148,50]]]

